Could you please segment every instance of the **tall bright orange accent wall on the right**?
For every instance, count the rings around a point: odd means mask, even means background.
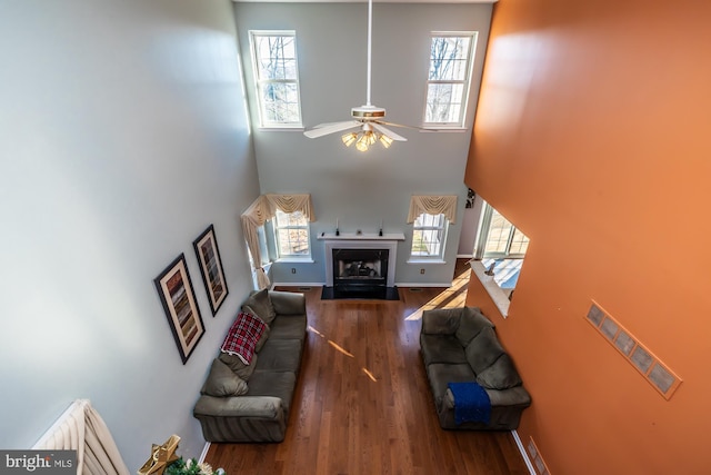
[[[500,0],[465,182],[531,238],[503,319],[551,473],[701,474],[711,427],[711,2]],[[665,400],[600,303],[683,383]]]

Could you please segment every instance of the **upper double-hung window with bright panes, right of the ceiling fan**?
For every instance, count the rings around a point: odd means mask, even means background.
[[[434,32],[424,126],[464,127],[477,32]]]

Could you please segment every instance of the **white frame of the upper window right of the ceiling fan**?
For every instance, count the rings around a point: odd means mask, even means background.
[[[464,78],[463,79],[431,79],[430,71],[432,71],[432,49],[435,38],[468,38],[469,50],[465,55]],[[428,77],[425,81],[425,95],[424,95],[424,109],[422,113],[422,127],[428,129],[464,129],[467,123],[467,109],[469,108],[469,97],[471,90],[471,78],[474,67],[474,57],[477,50],[477,41],[479,39],[478,31],[432,31],[430,33],[430,51],[428,60]],[[433,85],[460,85],[462,87],[462,95],[459,98],[459,102],[449,102],[448,109],[454,103],[460,103],[459,117],[457,120],[450,121],[428,121],[428,111],[430,110],[430,86]]]

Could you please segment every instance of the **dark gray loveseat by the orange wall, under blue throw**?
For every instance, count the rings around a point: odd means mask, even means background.
[[[531,405],[513,362],[499,344],[494,325],[477,307],[422,314],[420,349],[440,426],[447,429],[511,431]],[[475,382],[491,403],[489,423],[455,422],[449,383]]]

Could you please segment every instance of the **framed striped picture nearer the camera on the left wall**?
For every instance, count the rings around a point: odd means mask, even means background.
[[[184,254],[178,256],[153,281],[184,365],[204,335]]]

